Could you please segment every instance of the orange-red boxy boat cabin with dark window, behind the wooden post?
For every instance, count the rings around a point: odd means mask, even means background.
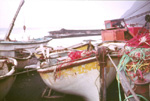
[[[133,38],[124,19],[105,21],[105,30],[101,31],[102,41],[125,41]]]

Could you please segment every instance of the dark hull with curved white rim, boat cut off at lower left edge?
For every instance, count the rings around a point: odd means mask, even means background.
[[[17,61],[15,59],[9,58],[9,60],[12,60],[14,62],[14,65],[17,65]],[[0,101],[3,100],[4,97],[7,95],[7,93],[9,92],[11,86],[13,85],[16,79],[16,76],[12,76],[15,72],[14,66],[7,67],[4,64],[4,68],[5,71],[8,68],[10,68],[10,70],[8,69],[9,71],[3,75],[4,71],[0,69],[0,73],[2,74],[0,75]]]

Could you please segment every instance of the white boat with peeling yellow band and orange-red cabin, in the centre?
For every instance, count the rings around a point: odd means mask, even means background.
[[[105,24],[121,21],[123,19],[115,19]],[[125,40],[132,34],[127,33],[125,28],[109,28],[101,31],[101,34],[102,43],[95,45],[90,40],[86,45],[78,44],[69,48],[37,48],[35,56],[39,62],[36,68],[45,84],[58,92],[82,96],[86,101],[106,99],[106,88],[116,76],[112,62],[106,59],[107,54],[118,64]],[[110,35],[113,35],[111,39],[107,37]]]

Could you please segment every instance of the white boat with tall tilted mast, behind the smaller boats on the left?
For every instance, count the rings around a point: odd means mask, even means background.
[[[17,40],[11,40],[9,38],[11,31],[13,29],[15,20],[17,18],[17,15],[21,9],[21,7],[24,4],[24,0],[20,2],[20,5],[17,9],[17,12],[13,18],[13,21],[10,25],[10,28],[8,30],[8,33],[6,34],[4,40],[0,40],[0,55],[1,56],[9,56],[13,57],[18,61],[18,65],[16,66],[16,69],[23,70],[23,68],[26,65],[31,65],[37,62],[34,51],[35,48],[39,45],[46,45],[52,38],[43,37],[43,38],[37,38],[37,39],[30,39],[28,41],[17,41]],[[24,26],[25,30],[25,26]]]

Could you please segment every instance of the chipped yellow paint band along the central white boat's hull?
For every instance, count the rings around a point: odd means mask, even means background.
[[[119,59],[118,58],[113,58],[114,62],[118,64]],[[113,65],[110,61],[107,61],[107,73],[110,72],[110,68],[113,68]],[[94,62],[89,62],[83,65],[79,66],[74,66],[66,69],[61,69],[59,67],[55,72],[49,72],[49,73],[40,73],[43,79],[48,79],[49,76],[53,76],[55,79],[63,79],[67,78],[68,76],[77,76],[80,74],[87,74],[88,72],[92,70],[100,70],[99,63],[97,61]]]

